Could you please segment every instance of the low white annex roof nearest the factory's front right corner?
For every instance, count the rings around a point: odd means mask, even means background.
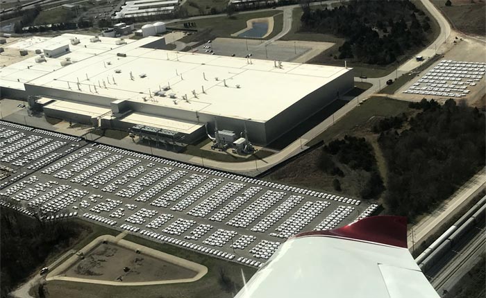
[[[191,134],[203,126],[201,123],[161,118],[138,112],[131,113],[123,119],[119,119],[119,121],[151,126],[153,128],[162,128],[173,132],[183,132],[185,134]]]

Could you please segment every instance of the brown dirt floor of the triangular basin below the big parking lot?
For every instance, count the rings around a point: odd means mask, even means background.
[[[190,279],[196,276],[196,272],[152,256],[137,254],[113,243],[101,243],[85,255],[84,259],[74,263],[65,272],[65,276],[140,282]]]

